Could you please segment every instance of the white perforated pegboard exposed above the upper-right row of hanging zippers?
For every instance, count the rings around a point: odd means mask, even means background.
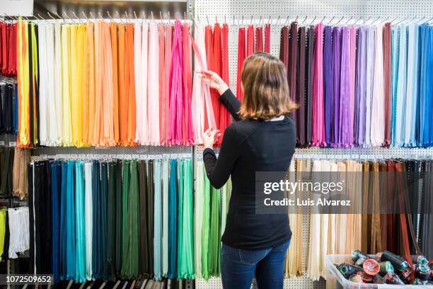
[[[271,19],[271,54],[279,55],[279,32],[283,24],[290,23],[298,16],[299,25],[306,21],[307,25],[315,19],[324,23],[333,20],[333,23],[344,17],[341,23],[352,18],[358,20],[371,19],[370,23],[381,18],[389,21],[398,18],[422,18],[426,21],[433,16],[433,3],[431,0],[294,0],[294,1],[261,1],[261,0],[195,0],[195,20],[202,23],[215,23],[215,21],[229,23],[229,73],[230,87],[236,91],[237,74],[237,44],[238,26],[251,23],[267,23]],[[234,17],[234,22],[233,22]],[[287,17],[289,17],[287,19]],[[279,21],[278,21],[279,18]],[[278,21],[278,22],[277,22]],[[278,23],[278,24],[276,24]]]

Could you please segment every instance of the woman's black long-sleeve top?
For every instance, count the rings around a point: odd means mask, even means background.
[[[277,121],[241,120],[241,103],[230,89],[219,101],[236,121],[224,132],[218,159],[214,150],[207,148],[203,162],[215,188],[224,186],[231,175],[231,199],[222,242],[247,250],[283,244],[291,238],[289,217],[255,213],[255,172],[289,169],[296,143],[294,121],[289,116]]]

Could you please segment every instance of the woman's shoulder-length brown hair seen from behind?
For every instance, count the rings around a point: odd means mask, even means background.
[[[298,106],[291,101],[284,64],[277,57],[256,52],[243,62],[242,119],[270,120]]]

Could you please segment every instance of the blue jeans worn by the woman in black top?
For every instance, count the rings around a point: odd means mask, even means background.
[[[265,250],[242,250],[223,243],[221,279],[224,289],[250,289],[255,276],[259,289],[283,288],[284,258],[289,243]]]

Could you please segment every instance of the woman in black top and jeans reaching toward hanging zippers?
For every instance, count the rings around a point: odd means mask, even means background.
[[[220,94],[236,122],[229,125],[219,151],[212,149],[219,130],[204,132],[203,162],[207,177],[221,188],[233,184],[226,229],[222,236],[221,277],[226,289],[283,287],[284,256],[291,231],[287,214],[255,214],[255,172],[287,171],[294,154],[296,130],[288,114],[296,108],[289,98],[284,64],[260,52],[243,64],[243,101],[214,72],[202,77]]]

